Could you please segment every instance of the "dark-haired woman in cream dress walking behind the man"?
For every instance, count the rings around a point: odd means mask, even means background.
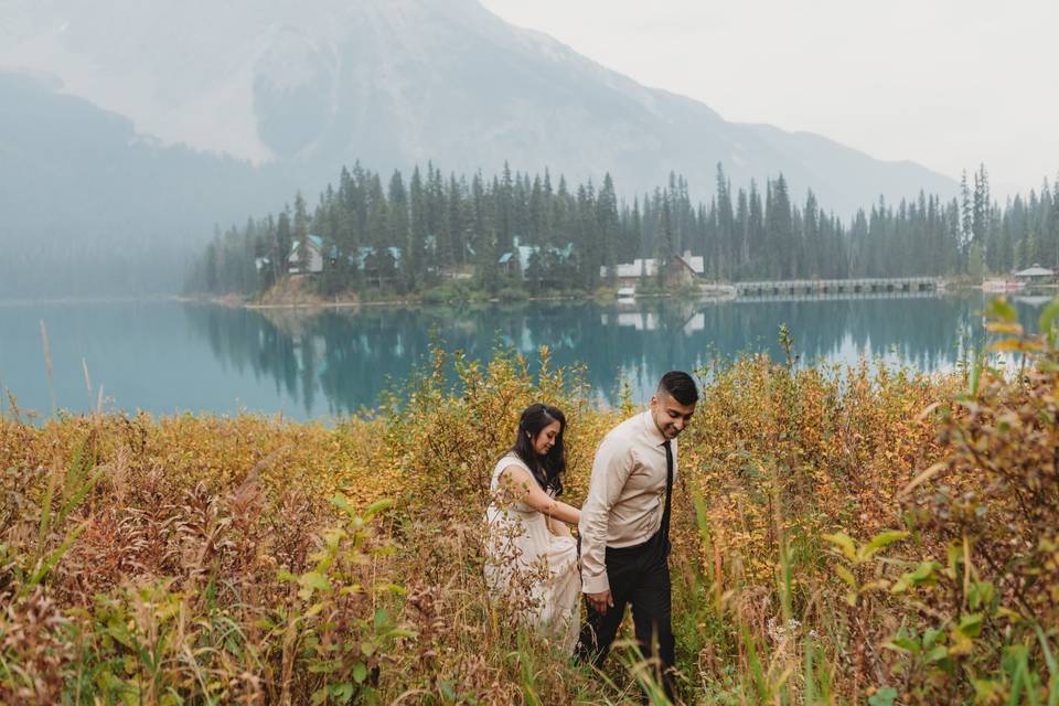
[[[577,642],[581,579],[577,544],[567,525],[580,511],[563,492],[566,417],[555,407],[522,413],[515,443],[493,469],[485,578],[494,602],[554,638],[569,654]]]

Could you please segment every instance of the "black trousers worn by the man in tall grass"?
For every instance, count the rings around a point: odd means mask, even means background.
[[[634,547],[607,547],[607,577],[614,605],[601,613],[587,605],[588,617],[581,625],[577,656],[601,667],[625,614],[625,605],[632,605],[632,621],[637,642],[644,659],[655,656],[670,700],[675,702],[676,663],[672,622],[670,585],[670,542],[659,531],[651,539]]]

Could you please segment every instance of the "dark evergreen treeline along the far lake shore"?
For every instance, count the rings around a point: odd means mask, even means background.
[[[613,284],[619,263],[674,255],[703,256],[714,280],[970,276],[1007,272],[1033,263],[1059,265],[1059,182],[1047,180],[1001,206],[990,195],[983,165],[961,193],[945,201],[920,192],[899,204],[860,210],[847,224],[825,211],[810,191],[793,201],[780,174],[762,190],[753,181],[732,192],[717,165],[716,192],[693,203],[687,182],[668,184],[627,203],[607,175],[570,186],[560,176],[481,172],[443,176],[428,164],[406,180],[397,171],[384,186],[359,163],[343,168],[310,208],[299,193],[293,208],[220,229],[197,258],[188,289],[200,293],[255,295],[309,269],[317,244],[322,271],[312,286],[322,295],[389,289],[424,291],[463,279],[495,292],[503,288],[579,289]],[[531,253],[525,269],[517,246]],[[527,249],[528,248],[528,249]],[[513,253],[514,259],[504,258]],[[525,263],[525,260],[524,260]],[[602,269],[601,269],[602,268]],[[664,281],[665,265],[657,280]],[[652,278],[654,279],[654,278]]]

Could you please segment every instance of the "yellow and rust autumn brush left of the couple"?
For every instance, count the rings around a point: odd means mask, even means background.
[[[0,703],[602,703],[490,603],[481,521],[522,407],[606,413],[546,354],[454,365],[333,428],[0,420]]]

